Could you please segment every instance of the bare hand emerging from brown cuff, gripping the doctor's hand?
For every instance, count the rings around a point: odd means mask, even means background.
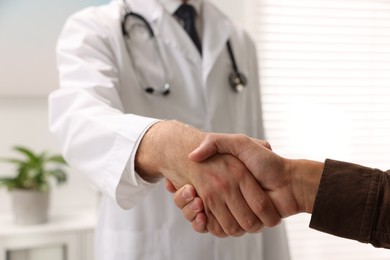
[[[199,162],[218,153],[232,154],[244,162],[282,217],[312,211],[323,170],[322,163],[285,159],[262,146],[259,140],[227,134],[208,134],[189,157]],[[191,196],[183,199],[181,194],[184,192]],[[206,219],[202,211],[193,210],[194,203],[197,208],[202,208],[202,201],[196,197],[194,187],[186,185],[178,190],[174,201],[186,219],[192,221],[195,231],[204,232],[206,223],[214,221]]]

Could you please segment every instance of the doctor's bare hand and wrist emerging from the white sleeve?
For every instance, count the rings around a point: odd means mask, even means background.
[[[167,178],[175,189],[191,184],[203,201],[206,230],[239,236],[280,222],[280,216],[245,165],[230,154],[201,162],[188,154],[206,133],[177,121],[162,121],[144,135],[136,154],[136,171],[147,181]]]

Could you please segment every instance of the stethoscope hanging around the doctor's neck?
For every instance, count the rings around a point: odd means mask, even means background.
[[[161,67],[163,68],[163,72],[164,72],[164,83],[159,88],[155,88],[155,87],[152,87],[152,86],[145,86],[145,84],[142,84],[140,82],[139,77],[137,77],[137,81],[142,86],[143,90],[146,93],[151,94],[151,95],[167,96],[170,93],[170,91],[171,91],[171,85],[169,84],[168,79],[167,79],[167,75],[168,75],[168,72],[167,72],[167,69],[166,69],[167,66],[164,63],[164,59],[162,57],[161,50],[160,50],[160,47],[158,45],[157,39],[156,39],[156,37],[154,35],[153,29],[150,26],[149,22],[146,21],[146,19],[143,16],[141,16],[140,14],[131,12],[129,10],[129,8],[127,6],[127,3],[126,3],[126,0],[123,0],[123,4],[124,4],[125,11],[126,11],[126,14],[125,14],[125,16],[123,17],[123,20],[122,20],[122,34],[123,34],[123,36],[126,38],[127,41],[130,40],[130,33],[129,33],[129,31],[126,28],[126,22],[127,22],[127,20],[129,18],[133,17],[133,18],[136,18],[139,21],[141,21],[144,24],[144,26],[146,27],[146,29],[147,29],[147,31],[149,33],[149,38],[153,40],[153,44],[154,44],[155,48],[157,49],[159,62],[161,64]],[[132,56],[131,55],[131,50],[130,50],[130,47],[128,46],[128,44],[126,44],[126,47],[127,47],[129,55]],[[240,93],[240,92],[242,92],[244,90],[244,87],[247,84],[247,79],[246,79],[245,75],[242,74],[239,71],[239,69],[238,69],[237,62],[236,62],[236,59],[235,59],[235,56],[234,56],[234,53],[233,53],[233,49],[232,49],[230,40],[227,41],[226,48],[228,50],[229,58],[230,58],[230,60],[232,62],[232,69],[233,69],[233,71],[229,75],[229,83],[230,83],[230,86],[232,87],[232,89],[236,93]],[[135,68],[135,70],[137,70],[137,66],[135,64],[134,59],[132,57],[130,57],[130,60],[132,62],[133,67]],[[139,74],[138,71],[136,71],[136,74]]]

